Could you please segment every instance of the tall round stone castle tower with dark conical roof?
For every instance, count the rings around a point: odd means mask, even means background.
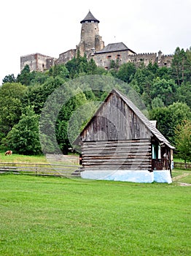
[[[99,35],[99,20],[89,11],[80,23],[82,24],[81,40],[77,45],[77,50],[79,50],[81,56],[86,54],[87,58],[90,59],[94,52],[104,48],[104,41]]]

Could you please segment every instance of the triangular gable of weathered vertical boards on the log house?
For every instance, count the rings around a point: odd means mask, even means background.
[[[132,140],[150,138],[141,119],[116,94],[111,94],[81,134],[87,140]]]

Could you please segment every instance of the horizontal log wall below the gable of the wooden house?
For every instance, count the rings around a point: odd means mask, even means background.
[[[86,141],[82,143],[82,165],[85,170],[152,169],[149,139]]]

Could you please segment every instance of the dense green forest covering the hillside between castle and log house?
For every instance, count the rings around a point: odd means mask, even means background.
[[[81,121],[77,124],[79,132],[79,127],[82,129],[85,125],[84,116],[88,112],[82,106],[103,101],[106,97],[106,85],[98,90],[93,90],[91,86],[88,88],[88,83],[84,90],[71,86],[71,81],[92,75],[121,80],[118,89],[125,94],[129,88],[136,91],[147,108],[149,119],[157,120],[157,129],[176,146],[176,154],[185,161],[191,160],[191,48],[184,50],[179,47],[174,51],[170,68],[158,67],[156,63],[146,67],[143,63],[139,66],[133,62],[119,65],[117,61],[111,61],[110,69],[106,70],[97,67],[93,59],[87,61],[86,56],[78,53],[66,64],[55,65],[45,72],[31,72],[26,65],[17,76],[7,75],[0,87],[1,150],[11,148],[18,154],[56,153],[60,150],[68,154],[72,148],[69,122],[76,121],[73,113],[81,109],[77,120]],[[40,117],[48,97],[55,93],[58,102],[59,99],[62,102],[63,98],[65,102],[62,106],[54,100],[50,103],[44,112],[49,120],[47,126],[43,124],[44,119],[40,123]],[[95,105],[90,105],[91,113]],[[52,120],[53,111],[58,107],[55,120]],[[55,136],[59,148],[51,136],[42,135],[39,140],[39,130],[43,126],[43,129],[55,129],[52,136]]]

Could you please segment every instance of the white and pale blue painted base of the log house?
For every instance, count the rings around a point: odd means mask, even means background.
[[[149,173],[147,170],[85,170],[81,173],[82,178],[106,181],[129,181],[137,183],[171,183],[169,170],[155,170]]]

